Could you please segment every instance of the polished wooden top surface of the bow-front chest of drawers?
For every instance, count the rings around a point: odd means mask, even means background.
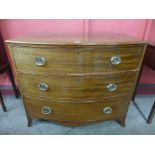
[[[125,34],[93,34],[84,38],[79,34],[31,34],[6,40],[7,43],[17,44],[47,44],[47,45],[117,45],[146,43],[138,38]]]

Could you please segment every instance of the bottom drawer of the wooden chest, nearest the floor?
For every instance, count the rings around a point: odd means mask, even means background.
[[[28,116],[57,121],[95,121],[117,118],[126,111],[129,98],[105,99],[94,103],[55,102],[24,97]]]

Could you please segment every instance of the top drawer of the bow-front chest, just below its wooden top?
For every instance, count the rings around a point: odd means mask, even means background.
[[[13,47],[17,70],[25,74],[100,73],[137,69],[144,46]]]

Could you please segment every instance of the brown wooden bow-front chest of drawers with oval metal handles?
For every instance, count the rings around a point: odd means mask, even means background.
[[[123,34],[32,35],[6,41],[28,118],[122,126],[146,43]]]

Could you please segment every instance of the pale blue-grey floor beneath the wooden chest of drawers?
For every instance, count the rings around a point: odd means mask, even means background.
[[[136,103],[147,118],[155,96],[139,96]],[[151,125],[141,116],[134,104],[130,105],[126,127],[122,128],[115,121],[105,121],[93,125],[68,127],[48,121],[33,121],[32,127],[27,127],[27,119],[21,98],[4,96],[8,112],[0,108],[1,135],[154,135],[155,118]]]

